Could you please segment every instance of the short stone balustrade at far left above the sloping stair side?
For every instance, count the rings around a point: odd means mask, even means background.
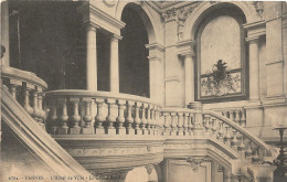
[[[44,127],[45,111],[43,110],[44,90],[46,83],[34,73],[2,66],[1,79],[23,108]]]

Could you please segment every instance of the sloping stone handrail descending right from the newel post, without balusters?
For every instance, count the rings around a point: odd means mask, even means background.
[[[223,122],[227,124],[228,126],[233,127],[234,129],[236,129],[237,131],[243,133],[245,137],[247,137],[249,140],[255,142],[257,146],[259,146],[261,148],[263,148],[266,151],[268,151],[268,154],[273,154],[272,150],[270,150],[270,147],[268,144],[266,144],[264,141],[258,139],[255,135],[251,133],[249,131],[247,131],[246,129],[244,129],[240,125],[235,124],[231,119],[228,119],[228,118],[226,118],[226,117],[224,117],[224,116],[222,116],[222,115],[220,115],[220,114],[217,114],[215,111],[212,111],[212,110],[203,110],[203,115],[211,115],[211,116],[213,116],[215,118],[219,118]]]

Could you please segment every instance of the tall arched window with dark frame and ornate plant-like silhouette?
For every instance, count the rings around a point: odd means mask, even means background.
[[[246,54],[243,20],[211,15],[196,36],[196,99],[203,103],[246,97]]]

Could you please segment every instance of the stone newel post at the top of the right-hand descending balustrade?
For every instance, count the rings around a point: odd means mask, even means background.
[[[202,115],[202,104],[200,101],[190,103],[188,105],[190,109],[194,109],[194,121],[191,130],[193,131],[193,136],[203,136],[203,115]]]

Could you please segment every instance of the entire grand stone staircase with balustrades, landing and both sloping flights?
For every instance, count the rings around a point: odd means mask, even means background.
[[[162,108],[127,94],[45,92],[42,79],[12,67],[2,67],[1,78],[3,122],[55,174],[108,181],[178,159],[193,165],[215,160],[243,181],[273,175],[274,167],[262,164],[275,159],[273,149],[201,103]]]

